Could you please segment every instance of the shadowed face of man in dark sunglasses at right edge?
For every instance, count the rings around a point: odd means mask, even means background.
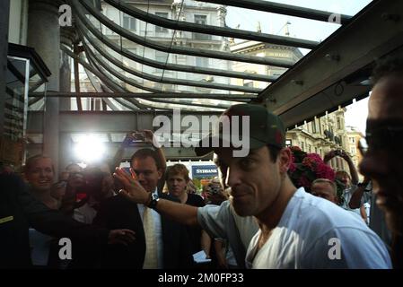
[[[403,77],[381,78],[369,100],[369,149],[360,164],[361,173],[372,178],[376,204],[385,212],[390,230],[399,234],[403,234],[403,152],[399,140],[403,135],[402,110]]]

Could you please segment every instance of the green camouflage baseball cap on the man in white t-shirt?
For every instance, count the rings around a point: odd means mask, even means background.
[[[238,116],[238,118],[234,118],[234,116]],[[236,139],[245,141],[246,139],[242,138],[242,129],[244,128],[249,130],[249,148],[251,150],[267,144],[278,148],[285,147],[285,126],[282,120],[263,106],[254,104],[233,105],[223,112],[220,122],[223,122],[223,117],[229,119],[229,130],[227,129],[225,132],[223,126],[216,123],[215,132],[203,138],[195,148],[197,156],[206,155],[206,153],[213,152],[218,148],[232,147],[232,133],[238,134],[238,137],[235,136]],[[214,141],[219,143],[218,146],[213,144]]]

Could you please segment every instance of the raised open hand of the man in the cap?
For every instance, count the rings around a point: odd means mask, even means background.
[[[120,194],[136,204],[147,204],[150,200],[150,193],[145,191],[145,188],[140,185],[136,178],[136,173],[132,169],[130,169],[130,173],[131,175],[123,169],[116,168],[113,174],[123,185]]]

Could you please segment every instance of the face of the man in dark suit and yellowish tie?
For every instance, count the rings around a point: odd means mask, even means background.
[[[148,192],[154,192],[158,180],[162,177],[162,172],[157,169],[153,158],[147,156],[144,159],[134,159],[132,161],[132,169],[135,171],[138,182],[142,187]]]

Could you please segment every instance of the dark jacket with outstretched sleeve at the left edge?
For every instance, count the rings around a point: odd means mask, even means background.
[[[109,230],[75,222],[49,209],[34,196],[21,178],[0,175],[0,268],[31,266],[29,227],[75,242],[106,244]]]

